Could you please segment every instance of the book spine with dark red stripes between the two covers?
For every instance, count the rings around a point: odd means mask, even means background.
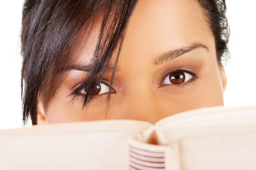
[[[168,141],[158,127],[137,134],[128,144],[130,170],[181,170],[180,142]]]

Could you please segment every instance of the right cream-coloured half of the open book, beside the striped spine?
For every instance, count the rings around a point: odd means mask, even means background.
[[[256,167],[256,107],[189,111],[169,116],[155,126],[169,141],[171,150],[180,150],[175,156],[180,170]]]

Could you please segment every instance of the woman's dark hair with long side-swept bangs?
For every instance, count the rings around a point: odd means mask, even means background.
[[[204,8],[215,37],[217,58],[221,65],[228,53],[229,27],[225,0],[197,0]],[[49,101],[61,84],[59,71],[72,62],[81,42],[81,32],[90,32],[96,20],[102,18],[99,39],[91,61],[92,67],[81,88],[87,92],[84,106],[93,99],[96,85],[102,80],[114,52],[116,63],[122,40],[137,0],[25,0],[21,29],[21,97],[23,124],[29,117],[37,124],[40,99]],[[111,90],[110,90],[111,91]],[[109,94],[110,96],[110,94]]]

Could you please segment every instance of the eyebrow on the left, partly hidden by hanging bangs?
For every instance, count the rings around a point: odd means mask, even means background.
[[[63,73],[65,71],[70,71],[70,70],[77,70],[77,71],[84,71],[84,72],[89,72],[93,68],[93,64],[73,64],[73,65],[68,65],[67,67],[61,68],[60,73]],[[114,67],[113,66],[108,66],[106,71],[113,71]],[[118,68],[116,68],[118,70]]]

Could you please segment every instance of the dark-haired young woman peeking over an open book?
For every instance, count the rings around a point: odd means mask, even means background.
[[[136,119],[223,105],[225,0],[25,0],[23,122]]]

